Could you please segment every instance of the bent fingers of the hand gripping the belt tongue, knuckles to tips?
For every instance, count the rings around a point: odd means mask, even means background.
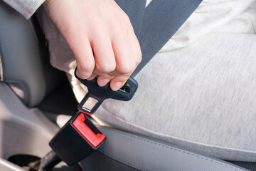
[[[119,34],[112,42],[111,38],[98,34],[93,41],[85,41],[75,48],[83,50],[83,53],[75,53],[76,49],[73,50],[78,63],[78,77],[92,80],[98,76],[98,85],[105,86],[111,81],[112,90],[118,90],[124,85],[142,59],[133,30],[127,31],[127,36]]]

